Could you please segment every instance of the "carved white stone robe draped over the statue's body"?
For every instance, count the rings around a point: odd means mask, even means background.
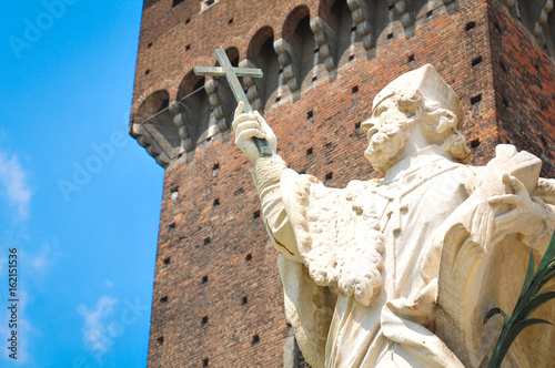
[[[515,164],[505,165],[503,170],[509,171]],[[466,296],[465,275],[450,274],[447,282],[440,277],[447,269],[441,270],[444,248],[466,252],[468,244],[476,244],[471,247],[477,251],[471,252],[470,263],[464,255],[456,257],[458,251],[446,252],[463,264],[500,259],[485,256],[500,242],[492,229],[494,214],[487,203],[472,195],[476,186],[488,185],[476,180],[481,168],[454,163],[430,146],[397,163],[383,181],[351,182],[344,190],[282,170],[275,163],[260,165],[256,180],[266,228],[283,255],[279,267],[286,317],[309,362],[314,367],[427,368],[480,364],[497,335],[490,327],[492,336],[484,337],[483,328],[476,330],[477,318],[483,318],[486,307],[498,306],[490,304],[505,304],[500,298],[516,301],[522,286],[516,277],[515,290],[504,290],[503,297],[492,294],[484,304],[477,300],[485,297],[481,285]],[[524,242],[538,248],[545,247],[554,227],[553,212],[545,204],[543,208],[544,224]],[[453,218],[453,213],[464,218]],[[474,222],[465,223],[465,218]],[[445,264],[455,267],[456,262]],[[458,272],[474,278],[498,272],[481,267],[481,273],[476,267],[458,267]],[[446,286],[451,289],[442,294]],[[474,305],[454,310],[445,300],[446,310],[438,310],[438,299],[447,295]],[[466,321],[461,318],[473,319],[471,327],[463,326]],[[522,351],[512,352],[507,361],[529,366]]]

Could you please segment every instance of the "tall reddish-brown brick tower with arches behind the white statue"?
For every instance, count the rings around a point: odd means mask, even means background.
[[[432,63],[460,95],[473,164],[512,143],[555,166],[552,0],[144,0],[130,133],[165,168],[149,367],[300,367],[260,204],[229,127],[224,49],[300,173],[342,187],[372,99]]]

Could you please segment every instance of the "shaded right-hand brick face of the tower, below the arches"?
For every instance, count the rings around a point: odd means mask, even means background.
[[[494,86],[501,142],[544,162],[542,175],[555,176],[555,68],[541,44],[492,1],[490,16]]]

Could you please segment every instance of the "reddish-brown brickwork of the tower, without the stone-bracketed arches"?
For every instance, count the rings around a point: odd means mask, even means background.
[[[200,1],[184,1],[173,10],[171,0],[145,7],[132,111],[159,89],[167,89],[175,99],[182,78],[192,67],[215,63],[215,48],[236,47],[243,60],[260,28],[272,27],[279,39],[295,6],[306,4],[311,18],[317,14],[320,1],[294,3],[221,0],[203,13],[199,13]],[[554,91],[553,68],[529,37],[500,7],[490,7],[486,1],[461,1],[450,11],[441,7],[430,18],[422,12],[418,17],[407,32],[395,21],[380,34],[373,51],[366,53],[359,48],[353,61],[343,59],[335,76],[319,75],[295,101],[266,106],[279,153],[292,168],[322,181],[333,173],[327,184],[337,187],[353,178],[375,176],[363,157],[365,137],[356,124],[367,119],[372,99],[381,88],[425,63],[436,68],[463,102],[463,130],[468,144],[474,142],[474,164],[485,164],[492,157],[500,130],[503,140],[521,149],[551,154],[542,151],[537,137],[554,129],[553,103],[546,100],[553,95],[547,91]],[[229,24],[231,18],[233,23]],[[188,24],[185,19],[190,19]],[[470,27],[471,22],[475,25]],[[502,34],[494,22],[502,27]],[[390,32],[394,33],[391,40],[386,38]],[[190,51],[185,51],[185,44],[191,44]],[[414,61],[408,62],[412,54]],[[482,62],[473,67],[473,60],[480,57]],[[504,60],[507,73],[500,70],[500,60]],[[151,70],[149,75],[144,75],[147,69]],[[529,84],[532,93],[522,93]],[[355,85],[359,91],[353,93]],[[471,105],[471,98],[477,95],[481,101]],[[511,113],[503,111],[502,95]],[[543,102],[546,110],[538,106]],[[309,111],[312,119],[307,119]],[[534,120],[538,113],[541,119]],[[523,129],[527,124],[531,130]],[[552,142],[551,136],[547,140]],[[309,149],[313,150],[311,155],[306,154]],[[220,167],[216,174],[214,164]],[[215,367],[282,366],[283,341],[290,331],[283,315],[276,253],[261,218],[253,218],[260,205],[248,167],[228,132],[216,134],[194,154],[175,160],[165,171],[149,367],[202,367],[206,358]],[[172,188],[179,188],[176,200],[171,198]],[[214,205],[214,200],[220,204]],[[208,237],[210,244],[204,244]],[[248,254],[252,260],[245,260]],[[170,263],[165,265],[168,257]],[[203,276],[208,276],[206,283]],[[165,296],[168,301],[160,301]],[[245,296],[248,303],[243,305]],[[209,319],[203,325],[204,316]],[[254,335],[260,338],[258,344],[253,344]]]

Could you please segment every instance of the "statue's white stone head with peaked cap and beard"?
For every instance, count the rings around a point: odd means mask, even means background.
[[[405,73],[374,98],[372,116],[361,124],[369,147],[365,156],[385,174],[411,147],[437,145],[458,162],[470,159],[460,127],[461,101],[431,64]]]

